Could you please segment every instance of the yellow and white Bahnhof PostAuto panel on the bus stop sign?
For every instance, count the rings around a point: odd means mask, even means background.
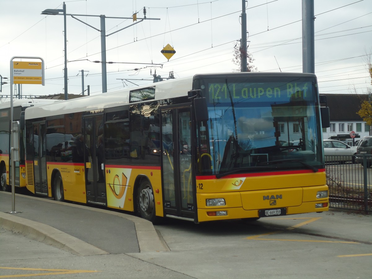
[[[42,84],[42,62],[13,61],[14,84]]]

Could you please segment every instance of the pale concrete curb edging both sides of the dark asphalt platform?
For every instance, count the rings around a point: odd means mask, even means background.
[[[9,193],[11,195],[11,193]],[[16,194],[16,196],[19,194]],[[25,198],[38,199],[44,202],[59,203],[65,206],[88,209],[96,212],[116,215],[134,222],[140,252],[169,251],[160,240],[153,223],[140,217],[128,215],[121,212],[113,212],[105,209],[92,208],[85,205],[76,205],[65,202],[57,202],[49,199],[19,195]],[[65,232],[57,230],[49,225],[17,217],[12,214],[0,212],[0,226],[6,230],[20,233],[33,240],[55,246],[61,250],[69,251],[78,256],[109,254],[89,243],[86,243]]]

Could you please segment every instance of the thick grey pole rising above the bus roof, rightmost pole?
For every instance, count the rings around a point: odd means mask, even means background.
[[[302,0],[302,73],[315,74],[314,0]]]

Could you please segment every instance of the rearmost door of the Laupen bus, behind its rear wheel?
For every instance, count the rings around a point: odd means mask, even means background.
[[[35,193],[41,195],[48,195],[45,138],[45,122],[33,123],[33,175]]]

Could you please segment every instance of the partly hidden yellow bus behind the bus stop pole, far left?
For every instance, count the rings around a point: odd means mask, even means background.
[[[20,115],[26,108],[53,103],[50,99],[15,99],[13,101],[13,121],[19,121]],[[10,102],[0,103],[0,190],[10,191],[12,185],[12,161],[10,160]],[[26,187],[25,150],[23,145],[23,131],[18,131],[20,142],[20,162],[15,166],[15,187]]]

